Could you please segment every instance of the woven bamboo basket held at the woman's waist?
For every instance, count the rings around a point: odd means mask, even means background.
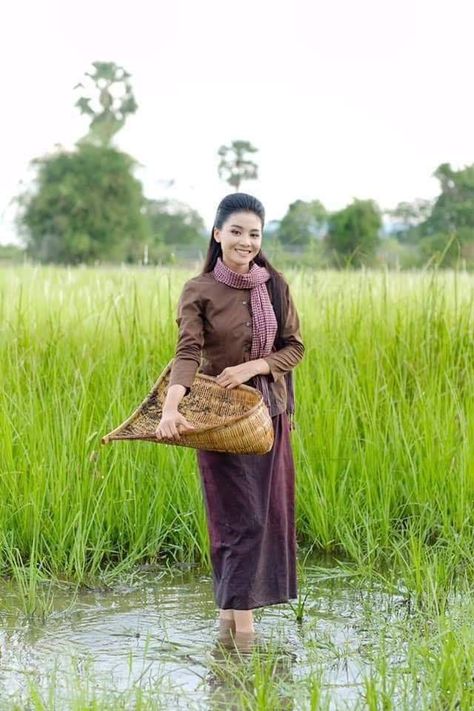
[[[273,424],[262,394],[249,385],[228,390],[215,378],[196,373],[191,391],[178,410],[196,428],[180,434],[179,441],[157,439],[155,430],[161,419],[169,386],[171,364],[153,385],[149,395],[121,425],[102,437],[112,440],[146,440],[194,449],[234,454],[265,454],[273,446]]]

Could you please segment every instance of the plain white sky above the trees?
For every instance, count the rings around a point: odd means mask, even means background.
[[[145,194],[189,203],[209,229],[233,191],[217,150],[234,139],[259,149],[241,190],[267,222],[298,198],[332,210],[433,197],[440,163],[474,163],[472,0],[4,5],[1,242],[29,161],[86,133],[73,87],[95,60],[132,75],[139,108],[117,145],[143,165]]]

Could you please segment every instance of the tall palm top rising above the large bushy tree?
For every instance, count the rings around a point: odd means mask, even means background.
[[[94,72],[85,72],[90,79],[86,86],[80,82],[74,87],[88,92],[75,103],[82,114],[91,117],[89,132],[82,141],[109,146],[113,136],[138,106],[129,82],[130,74],[123,67],[114,62],[93,62],[92,66]]]

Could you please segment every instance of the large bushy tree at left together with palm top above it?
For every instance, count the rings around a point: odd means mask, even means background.
[[[96,106],[91,97],[76,102],[91,116],[89,133],[74,151],[33,160],[35,185],[18,198],[27,253],[42,262],[138,261],[149,235],[136,163],[110,145],[137,109],[130,75],[113,62],[93,67],[86,76],[98,93]]]

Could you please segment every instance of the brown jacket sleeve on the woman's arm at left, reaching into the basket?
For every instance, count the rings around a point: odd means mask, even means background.
[[[192,281],[186,282],[181,292],[176,323],[179,333],[169,384],[170,386],[183,385],[187,395],[201,363],[201,350],[204,343],[202,302]]]

